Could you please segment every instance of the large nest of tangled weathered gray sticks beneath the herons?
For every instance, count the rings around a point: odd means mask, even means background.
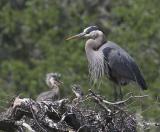
[[[30,98],[17,97],[13,105],[0,114],[0,130],[134,132],[138,124],[135,116],[123,109],[124,103],[129,99],[111,103],[92,90],[89,90],[89,95],[83,99],[74,101],[61,99],[54,102],[36,102]],[[86,105],[88,102],[99,107],[93,109]]]

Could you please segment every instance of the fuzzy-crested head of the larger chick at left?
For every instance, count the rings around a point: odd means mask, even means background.
[[[61,74],[59,73],[47,73],[46,84],[49,88],[57,88],[62,82],[60,81]]]

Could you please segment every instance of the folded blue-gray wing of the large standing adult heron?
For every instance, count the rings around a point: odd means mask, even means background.
[[[103,49],[105,60],[110,68],[110,72],[117,81],[136,81],[142,89],[146,89],[146,83],[133,58],[118,45],[109,42]],[[119,80],[118,80],[119,79]]]

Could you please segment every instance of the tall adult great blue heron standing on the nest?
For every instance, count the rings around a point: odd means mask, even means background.
[[[74,38],[88,39],[85,51],[92,80],[96,81],[106,75],[119,86],[136,82],[143,90],[147,89],[134,59],[120,46],[108,41],[97,26],[90,26],[82,33],[71,36],[67,40]]]

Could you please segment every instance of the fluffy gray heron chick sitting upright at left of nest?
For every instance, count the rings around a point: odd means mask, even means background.
[[[55,101],[59,98],[60,74],[48,73],[46,74],[45,81],[51,90],[41,93],[36,101]]]

